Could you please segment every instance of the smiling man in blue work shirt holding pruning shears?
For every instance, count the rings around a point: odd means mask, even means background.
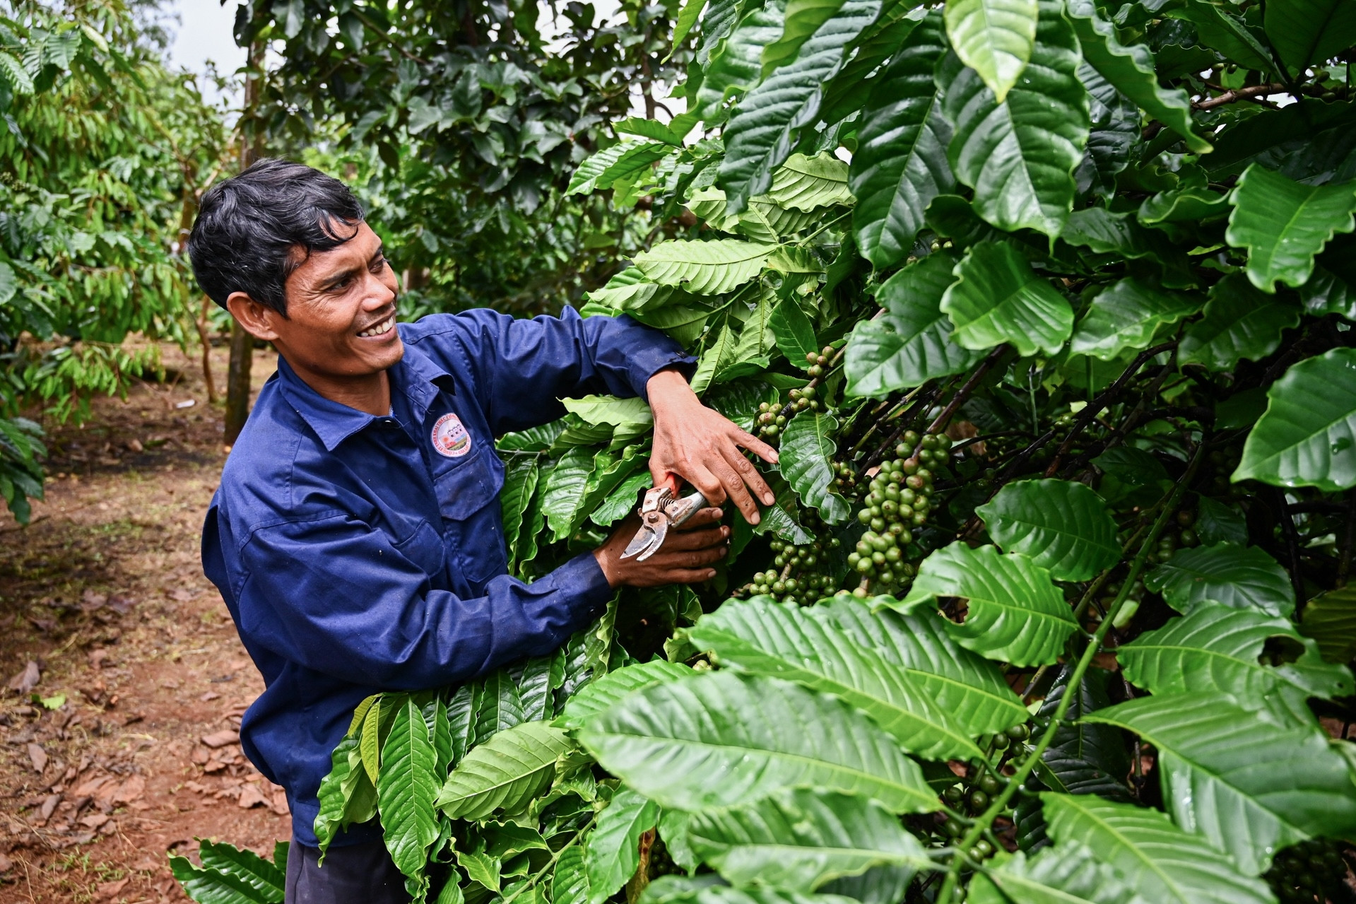
[[[622,559],[632,520],[523,584],[507,574],[495,437],[561,417],[561,396],[640,395],[656,483],[686,479],[754,523],[754,495],[773,497],[739,447],[776,452],[704,407],[693,358],[629,318],[480,309],[397,324],[381,240],[347,187],[309,167],[263,160],[213,186],[188,254],[202,289],[279,353],[222,471],[202,561],[267,687],[240,737],[287,791],[286,900],[403,900],[376,823],[316,865],[316,791],[354,706],[548,653],[614,588],[704,581],[727,550],[708,508],[648,561]]]

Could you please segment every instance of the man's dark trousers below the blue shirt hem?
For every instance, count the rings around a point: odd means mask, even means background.
[[[292,842],[285,904],[410,904],[405,880],[378,839],[320,850]]]

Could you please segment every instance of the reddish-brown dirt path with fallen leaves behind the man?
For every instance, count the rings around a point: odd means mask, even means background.
[[[236,736],[263,683],[198,559],[221,414],[197,362],[165,365],[49,425],[46,501],[0,513],[0,903],[183,901],[167,851],[290,833]],[[273,369],[258,352],[256,390]]]

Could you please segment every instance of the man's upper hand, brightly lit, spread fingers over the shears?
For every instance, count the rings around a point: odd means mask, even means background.
[[[702,404],[678,371],[654,375],[645,392],[655,413],[655,445],[650,456],[655,486],[673,483],[673,476],[682,478],[711,502],[728,498],[746,521],[758,524],[758,504],[750,493],[763,505],[776,498],[739,449],[743,447],[772,463],[777,462],[777,451]]]

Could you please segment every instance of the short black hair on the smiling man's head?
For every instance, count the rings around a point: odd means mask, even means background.
[[[287,160],[259,160],[202,194],[188,235],[198,285],[226,307],[232,292],[287,316],[283,285],[312,251],[358,233],[363,212],[339,179]]]

